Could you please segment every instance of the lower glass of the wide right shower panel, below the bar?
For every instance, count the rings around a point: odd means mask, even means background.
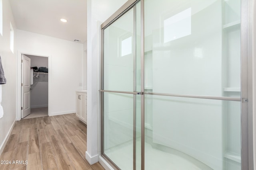
[[[240,102],[146,95],[145,112],[146,170],[240,168]]]

